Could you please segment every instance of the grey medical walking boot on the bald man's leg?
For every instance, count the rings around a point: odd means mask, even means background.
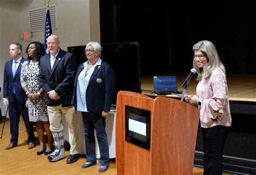
[[[59,159],[65,158],[63,132],[52,132],[56,150],[53,151],[47,158],[50,162],[56,162]]]

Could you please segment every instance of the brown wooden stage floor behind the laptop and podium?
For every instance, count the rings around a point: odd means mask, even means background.
[[[187,74],[175,74],[177,76],[178,90],[183,92],[183,88],[180,86]],[[196,86],[198,81],[194,76],[188,86],[187,93],[196,94]],[[142,94],[157,96],[156,94],[149,92],[153,91],[153,76],[143,76],[142,81]],[[246,101],[256,102],[256,75],[255,74],[228,74],[227,75],[227,87],[230,97],[230,101]],[[173,95],[166,95],[172,97]],[[174,96],[173,96],[174,97]],[[177,96],[176,96],[177,97]]]

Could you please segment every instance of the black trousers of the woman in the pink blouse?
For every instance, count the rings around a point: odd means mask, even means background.
[[[222,174],[223,148],[228,134],[228,127],[218,125],[203,128],[204,175]]]

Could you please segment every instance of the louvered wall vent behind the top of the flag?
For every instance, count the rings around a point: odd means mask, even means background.
[[[44,31],[46,8],[36,8],[29,10],[29,27],[31,32]],[[57,29],[56,5],[50,5],[51,28]]]

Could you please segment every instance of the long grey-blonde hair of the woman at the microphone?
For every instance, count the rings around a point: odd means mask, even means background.
[[[205,53],[207,55],[207,63],[203,68],[199,68],[196,64],[196,58],[193,60],[193,67],[197,70],[197,80],[207,79],[210,77],[214,69],[220,68],[225,74],[225,67],[221,63],[219,55],[217,53],[216,47],[211,41],[203,40],[199,41],[197,44],[193,45],[193,51],[198,51]]]

